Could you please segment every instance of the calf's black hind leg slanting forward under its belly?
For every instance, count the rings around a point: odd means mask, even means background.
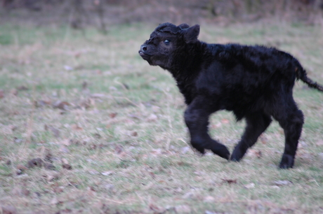
[[[272,122],[270,115],[266,115],[265,113],[252,113],[246,116],[246,129],[244,134],[242,135],[242,139],[235,146],[235,149],[232,152],[230,160],[239,162],[246,150],[253,146],[258,137],[267,129],[267,127]]]

